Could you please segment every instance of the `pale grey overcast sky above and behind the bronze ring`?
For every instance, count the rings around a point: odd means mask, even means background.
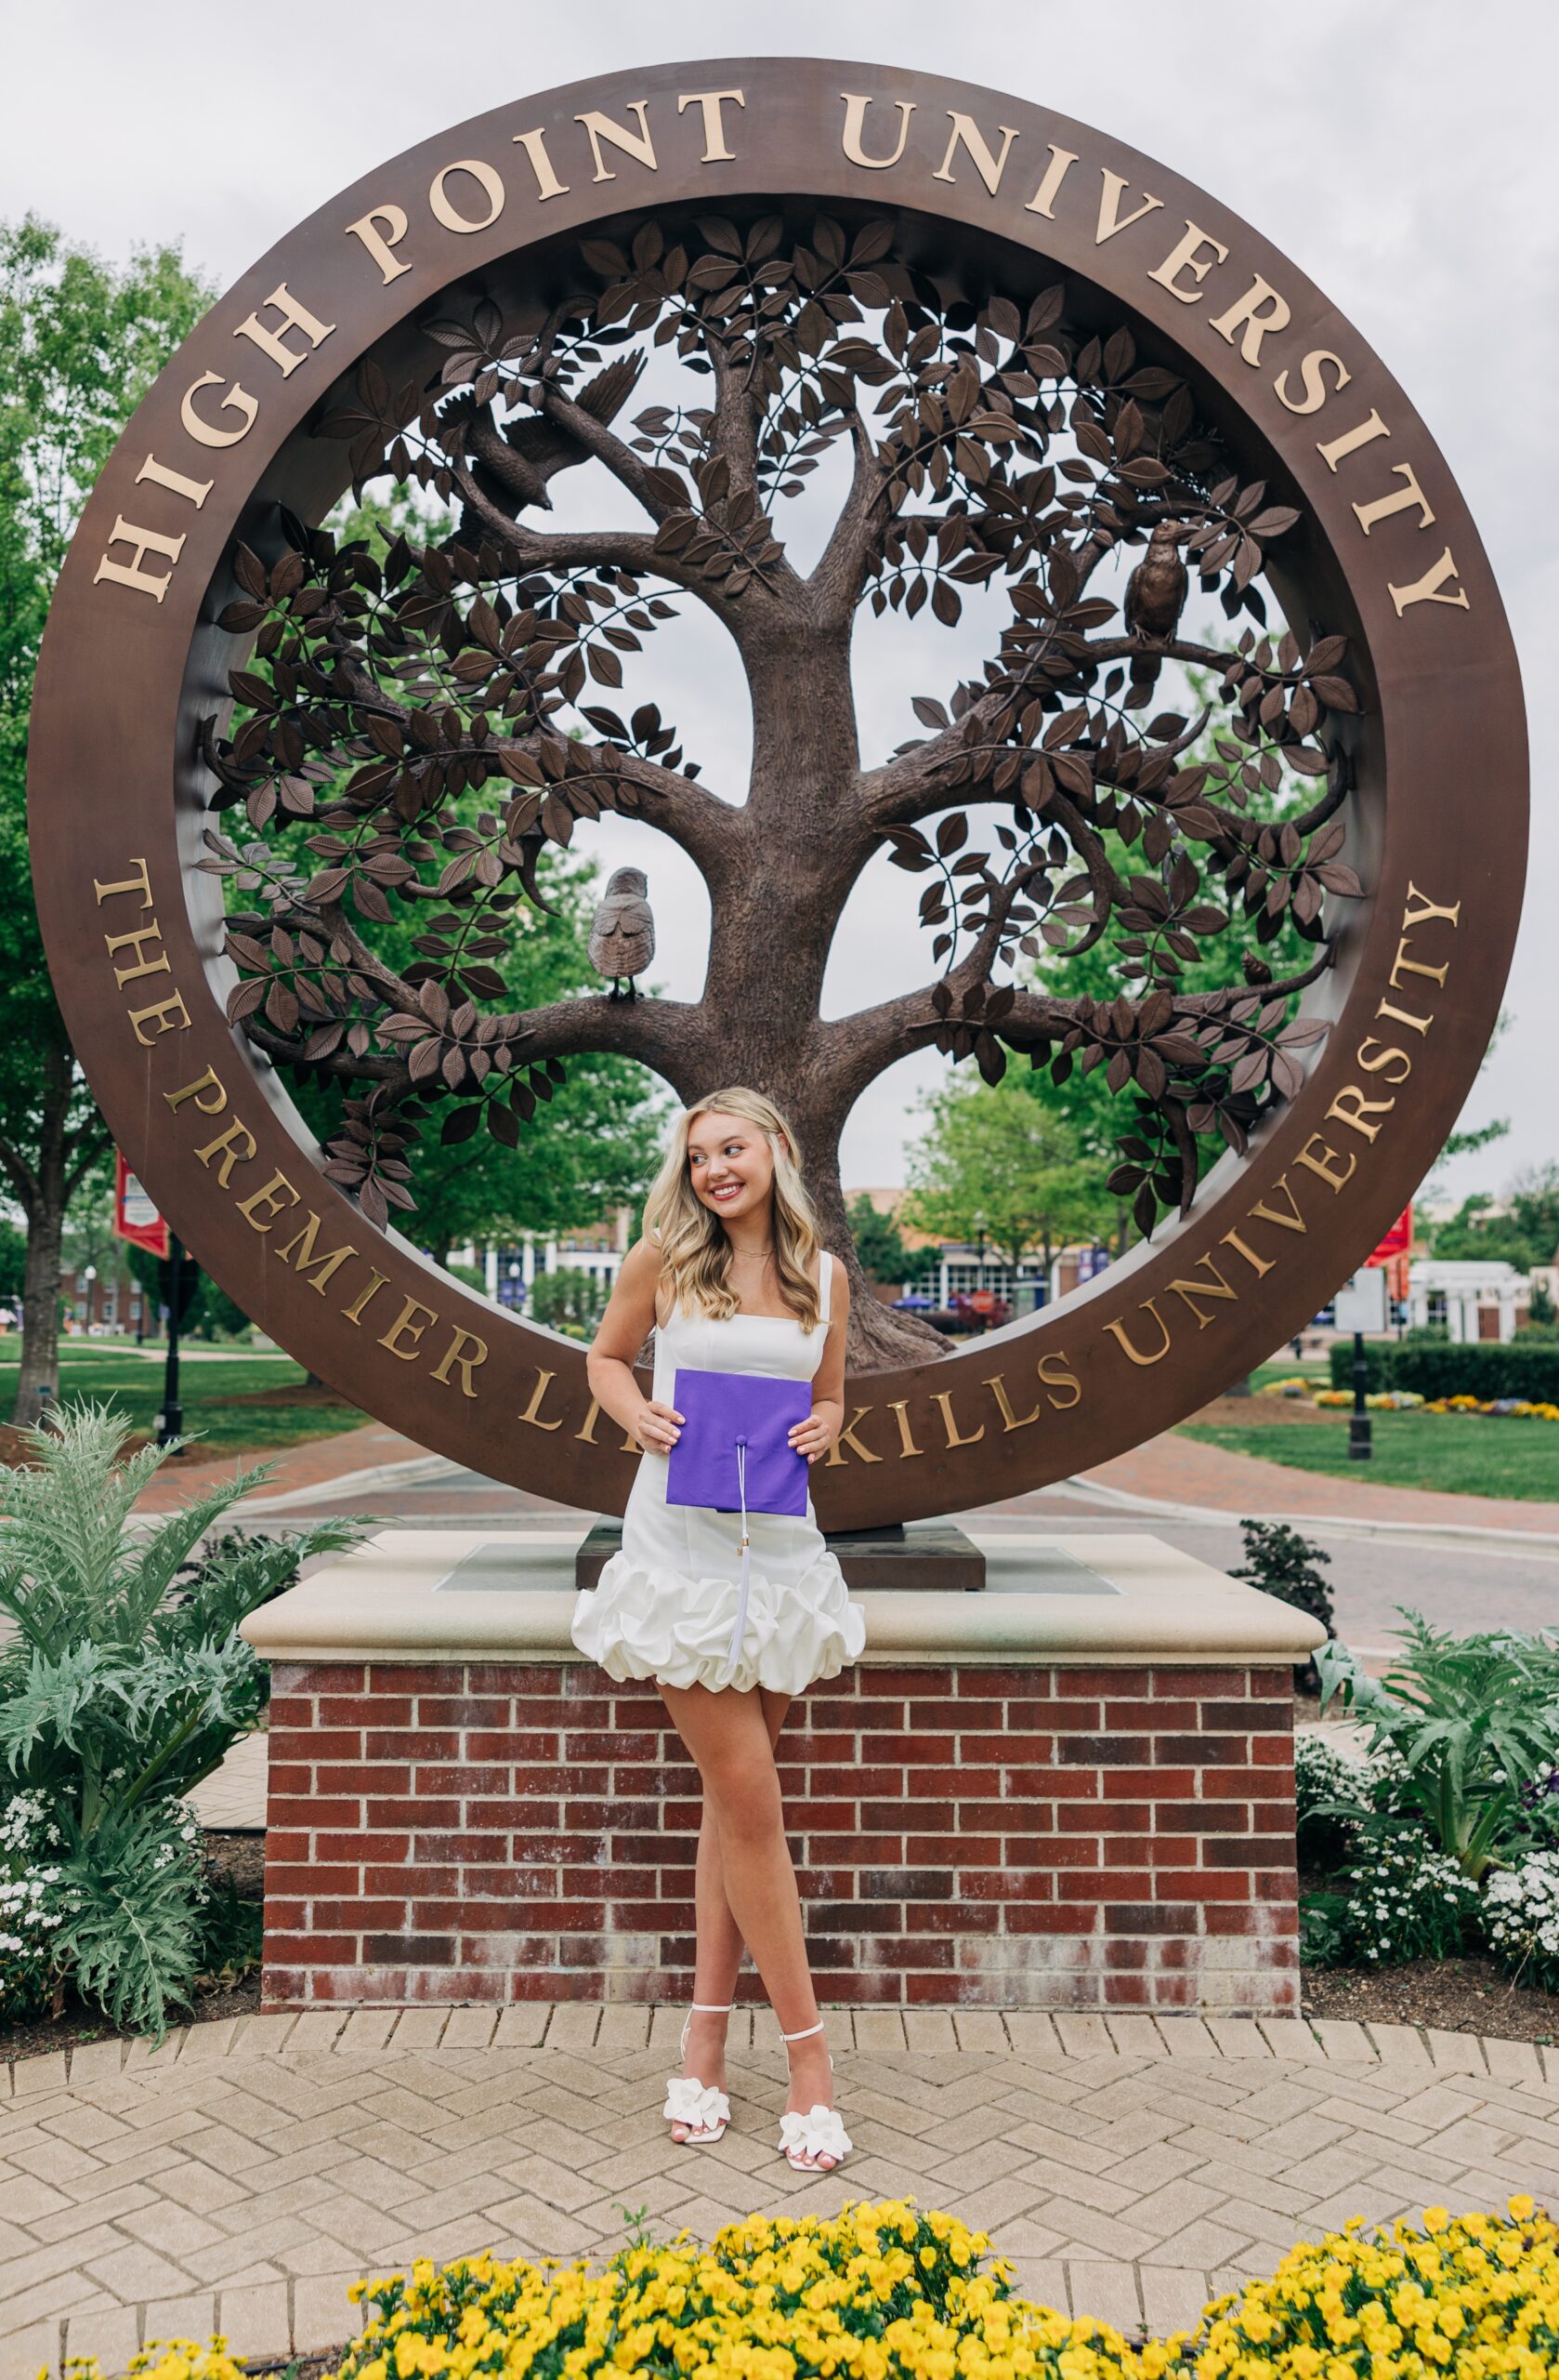
[[[771,55],[893,57],[964,74],[1162,157],[1259,226],[1352,317],[1469,497],[1535,707],[1542,638],[1559,631],[1554,562],[1530,528],[1559,345],[1559,29],[1538,0],[1497,0],[1497,17],[1490,40],[1490,17],[1464,0],[1309,0],[1302,12],[1247,0],[1112,0],[1107,10],[788,0],[764,14],[762,33],[743,33],[750,12],[712,0],[657,10],[488,0],[464,12],[426,0],[271,0],[236,12],[212,0],[0,0],[0,217],[38,212],[117,259],[138,243],[183,240],[188,262],[226,286],[378,159],[574,76],[728,55],[743,38]],[[969,36],[962,48],[957,33]],[[1480,350],[1497,352],[1497,383],[1480,374]],[[662,650],[666,714],[709,762],[707,776],[740,790],[740,688],[709,671],[697,645],[657,647],[657,662]],[[881,678],[864,702],[864,735],[895,743],[912,733],[897,707],[907,654],[885,647]],[[1559,862],[1552,759],[1533,795],[1540,876]],[[1469,831],[1476,814],[1469,785]],[[652,840],[657,981],[688,995],[697,990],[697,885]],[[626,854],[619,840],[600,845],[607,864]],[[869,876],[845,921],[831,1007],[878,997],[885,976],[923,976],[912,909],[909,878]],[[1511,1135],[1450,1171],[1457,1192],[1559,1157],[1554,990],[1552,940],[1528,904],[1509,985],[1514,1021],[1464,1119],[1509,1116]],[[902,1180],[912,1100],[933,1073],[935,1061],[909,1061],[862,1102],[845,1180]]]

